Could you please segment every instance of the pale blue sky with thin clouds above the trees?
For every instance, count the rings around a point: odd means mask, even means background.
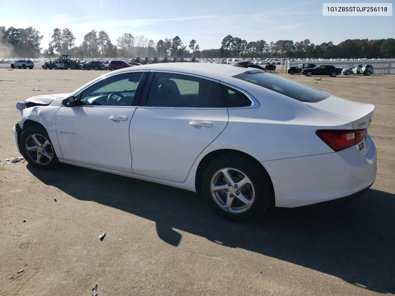
[[[107,32],[114,44],[124,33],[144,35],[155,43],[177,35],[184,45],[195,39],[200,50],[220,48],[228,34],[247,42],[309,39],[314,44],[395,37],[395,16],[322,16],[323,2],[342,0],[0,0],[0,26],[32,26],[44,35],[43,48],[54,28],[69,28],[78,46],[96,29]],[[28,13],[11,13],[21,7]]]

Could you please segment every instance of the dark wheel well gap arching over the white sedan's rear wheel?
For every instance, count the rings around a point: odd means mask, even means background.
[[[273,189],[273,182],[272,182],[272,180],[271,180],[271,178],[270,178],[270,176],[269,176],[267,170],[265,169],[265,167],[263,167],[263,165],[262,165],[258,160],[256,160],[254,157],[252,157],[251,155],[246,154],[245,152],[241,152],[241,151],[239,151],[239,150],[233,150],[233,149],[220,149],[220,150],[215,150],[215,151],[212,151],[212,152],[210,152],[209,154],[205,155],[205,157],[203,157],[203,158],[201,159],[201,161],[200,161],[200,163],[199,163],[199,165],[198,165],[198,169],[196,170],[196,175],[195,175],[195,189],[196,189],[196,192],[199,194],[200,191],[201,191],[201,188],[200,188],[200,187],[201,187],[201,178],[202,178],[202,176],[203,176],[203,172],[204,172],[205,167],[207,167],[207,165],[208,165],[211,161],[213,161],[216,157],[218,157],[218,156],[220,156],[220,155],[224,155],[224,154],[243,155],[243,156],[245,156],[245,157],[251,159],[251,161],[253,161],[253,162],[255,162],[255,163],[258,163],[258,164],[259,164],[259,167],[261,167],[262,171],[263,171],[265,174],[267,174],[267,177],[268,177],[269,180],[270,180],[270,184],[271,184],[271,187],[272,187],[271,189],[272,189],[272,191],[273,191],[273,195],[272,195],[272,196],[273,196],[273,200],[271,200],[271,204],[272,204],[272,205],[275,205],[275,200],[274,200],[275,195],[274,195],[274,189]]]

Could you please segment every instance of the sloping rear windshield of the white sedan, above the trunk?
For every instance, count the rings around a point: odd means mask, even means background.
[[[279,94],[283,94],[284,96],[291,97],[301,102],[315,103],[329,97],[329,95],[324,92],[320,92],[310,86],[266,72],[252,70],[233,77],[273,90],[273,92],[278,92]]]

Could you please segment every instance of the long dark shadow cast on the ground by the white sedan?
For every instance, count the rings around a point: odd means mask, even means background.
[[[336,208],[276,208],[259,221],[217,217],[196,193],[62,165],[30,172],[79,200],[156,222],[158,236],[177,246],[180,229],[228,247],[286,260],[368,290],[395,292],[395,195],[374,189]],[[215,225],[215,227],[213,227]]]

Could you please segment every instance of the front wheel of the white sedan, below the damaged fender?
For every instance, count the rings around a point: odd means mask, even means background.
[[[41,144],[47,144],[39,146],[34,141],[34,138]],[[38,148],[36,149],[38,150],[27,150],[26,146],[31,148],[37,146]],[[53,150],[48,133],[41,125],[30,126],[23,130],[19,140],[19,149],[26,161],[36,169],[51,170],[59,165],[58,157],[55,150]]]

